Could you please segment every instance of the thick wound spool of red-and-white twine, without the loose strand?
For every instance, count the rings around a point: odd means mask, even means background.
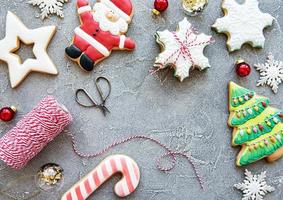
[[[23,168],[71,121],[67,109],[47,96],[0,139],[0,159],[14,169]]]

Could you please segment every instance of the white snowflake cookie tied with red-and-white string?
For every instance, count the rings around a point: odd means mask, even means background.
[[[189,77],[191,68],[203,70],[210,67],[203,50],[213,39],[203,33],[198,34],[187,18],[179,22],[176,32],[158,31],[156,42],[162,51],[154,63],[156,71],[170,66],[175,70],[175,77],[183,81]]]

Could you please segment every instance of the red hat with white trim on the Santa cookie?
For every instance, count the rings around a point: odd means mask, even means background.
[[[100,0],[101,3],[115,11],[127,22],[131,21],[133,5],[131,0]]]

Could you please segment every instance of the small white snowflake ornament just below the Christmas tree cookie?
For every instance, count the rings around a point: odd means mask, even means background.
[[[242,200],[262,200],[268,192],[273,192],[275,189],[267,185],[265,178],[266,172],[259,175],[253,175],[250,171],[245,171],[245,180],[243,183],[235,184],[234,187],[242,190],[244,196]]]

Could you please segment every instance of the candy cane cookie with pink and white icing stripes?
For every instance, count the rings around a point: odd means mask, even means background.
[[[103,160],[87,176],[76,183],[61,200],[85,200],[104,182],[116,173],[123,178],[114,187],[115,194],[126,197],[137,188],[140,181],[140,170],[137,163],[125,155],[113,155]]]

